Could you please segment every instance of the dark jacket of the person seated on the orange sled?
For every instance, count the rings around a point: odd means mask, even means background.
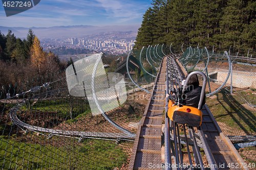
[[[183,100],[182,103],[185,104],[186,106],[198,108],[201,90],[202,90],[201,86],[193,86],[193,85],[187,86],[182,96],[182,100]],[[203,99],[202,106],[204,104],[205,104],[205,92],[204,92],[204,99]]]

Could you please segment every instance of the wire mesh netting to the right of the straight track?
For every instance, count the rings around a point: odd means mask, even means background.
[[[222,49],[223,50],[223,49]],[[256,158],[255,51],[188,47],[179,61],[207,76],[206,104],[242,158]],[[201,80],[202,84],[202,80]]]

